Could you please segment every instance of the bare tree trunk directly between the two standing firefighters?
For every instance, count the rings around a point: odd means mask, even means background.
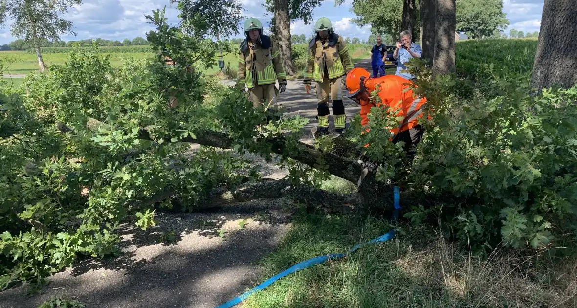
[[[288,0],[274,0],[276,42],[279,46],[284,71],[294,76],[293,46],[290,41],[290,16],[288,14]]]

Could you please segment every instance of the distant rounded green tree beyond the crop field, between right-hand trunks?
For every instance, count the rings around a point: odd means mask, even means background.
[[[492,36],[509,25],[503,0],[459,0],[456,5],[457,31],[471,39]]]

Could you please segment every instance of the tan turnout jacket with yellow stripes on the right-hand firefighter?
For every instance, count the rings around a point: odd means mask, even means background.
[[[312,39],[309,42],[307,57],[304,74],[305,84],[310,84],[313,79],[322,82],[325,67],[329,79],[342,77],[353,69],[349,48],[342,37],[336,33],[333,33],[332,37],[327,37],[325,43],[322,43],[318,37]]]

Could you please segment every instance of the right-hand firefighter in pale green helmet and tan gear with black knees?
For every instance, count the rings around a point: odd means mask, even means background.
[[[343,88],[344,78],[353,69],[349,50],[344,40],[332,30],[331,21],[321,17],[314,25],[317,32],[309,42],[308,59],[305,70],[305,91],[309,93],[312,80],[317,82],[317,119],[319,127],[313,128],[314,134],[328,134],[328,98],[332,101],[332,115],[335,132],[342,134],[346,125],[344,114]]]

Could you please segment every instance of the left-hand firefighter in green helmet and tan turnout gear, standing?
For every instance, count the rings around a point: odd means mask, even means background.
[[[286,89],[286,73],[280,62],[279,49],[271,38],[263,35],[263,25],[256,18],[245,21],[243,30],[246,39],[238,52],[237,87],[249,91],[249,100],[256,108],[267,109],[276,104],[279,80],[280,93]]]

